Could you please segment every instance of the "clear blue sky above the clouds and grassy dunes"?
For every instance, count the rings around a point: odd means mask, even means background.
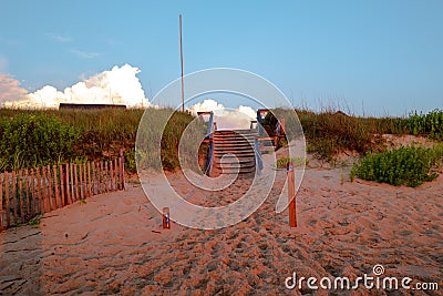
[[[146,96],[181,74],[257,73],[297,105],[404,115],[443,108],[443,1],[3,0],[0,72],[63,90],[128,63]]]

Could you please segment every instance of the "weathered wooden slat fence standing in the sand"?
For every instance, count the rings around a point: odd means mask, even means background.
[[[86,197],[124,190],[124,157],[0,174],[0,231]]]

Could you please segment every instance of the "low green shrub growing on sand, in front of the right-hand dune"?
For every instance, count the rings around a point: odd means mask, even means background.
[[[391,185],[408,185],[416,187],[423,182],[434,180],[437,174],[432,169],[441,166],[443,145],[432,149],[422,146],[402,146],[383,153],[368,154],[351,171],[351,178],[356,176],[388,183]]]

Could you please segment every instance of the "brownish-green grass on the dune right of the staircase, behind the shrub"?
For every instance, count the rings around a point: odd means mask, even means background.
[[[408,118],[361,118],[324,110],[312,112],[296,110],[303,127],[308,152],[320,160],[332,161],[346,151],[367,152],[383,150],[382,134],[413,134],[433,140],[443,139],[443,111],[434,110],[427,114],[411,113]],[[280,109],[272,110],[277,118],[285,118]],[[262,121],[265,130],[274,134],[277,119],[268,113]]]

